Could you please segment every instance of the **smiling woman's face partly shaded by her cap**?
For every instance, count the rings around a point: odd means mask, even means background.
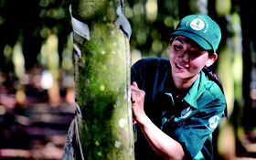
[[[174,37],[170,43],[169,59],[174,79],[192,81],[197,79],[197,74],[204,66],[210,66],[215,60],[212,62],[207,50],[182,36]]]

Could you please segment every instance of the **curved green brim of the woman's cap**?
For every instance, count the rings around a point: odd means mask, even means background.
[[[208,41],[206,41],[203,37],[198,36],[197,34],[191,33],[191,32],[186,32],[183,30],[176,30],[174,33],[171,34],[171,36],[184,36],[184,37],[189,37],[190,39],[194,40],[197,42],[197,44],[206,49],[210,50],[213,49],[211,46],[208,44]]]

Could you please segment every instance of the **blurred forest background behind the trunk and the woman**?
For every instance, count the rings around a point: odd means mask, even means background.
[[[0,0],[0,159],[62,156],[75,111],[69,4]],[[184,16],[208,14],[219,24],[216,68],[229,117],[216,131],[216,157],[255,158],[256,1],[129,0],[124,11],[132,63],[167,58],[169,34]]]

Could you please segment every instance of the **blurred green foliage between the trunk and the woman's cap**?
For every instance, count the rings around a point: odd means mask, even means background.
[[[169,34],[177,25],[177,1],[127,1],[125,15],[133,28],[131,52],[138,49],[143,57],[167,57]]]

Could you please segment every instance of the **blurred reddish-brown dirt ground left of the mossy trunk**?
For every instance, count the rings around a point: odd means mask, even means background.
[[[74,104],[52,106],[30,97],[27,106],[20,106],[13,99],[0,94],[0,159],[61,159]]]

